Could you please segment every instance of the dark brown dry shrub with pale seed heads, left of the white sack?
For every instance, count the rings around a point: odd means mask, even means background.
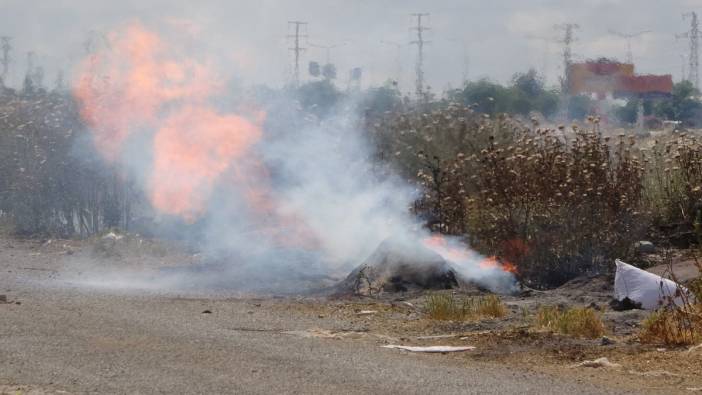
[[[644,233],[643,167],[633,138],[614,142],[595,127],[536,129],[469,158],[479,190],[469,199],[472,245],[513,260],[535,287],[608,270]],[[522,247],[515,251],[517,243]]]

